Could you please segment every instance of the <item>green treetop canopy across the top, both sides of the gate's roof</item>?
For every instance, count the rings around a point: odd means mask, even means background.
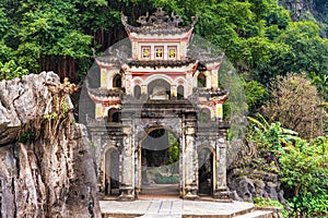
[[[314,3],[327,14],[321,8],[326,3]],[[195,32],[223,49],[239,72],[261,83],[286,72],[327,72],[328,44],[319,37],[319,27],[314,22],[292,23],[289,12],[271,0],[3,2],[0,61],[14,60],[36,73],[52,61],[48,57],[62,57],[62,62],[72,58],[83,76],[91,47],[104,51],[108,43],[125,37],[121,10],[136,24],[139,15],[156,7],[181,15],[183,25],[197,14]]]

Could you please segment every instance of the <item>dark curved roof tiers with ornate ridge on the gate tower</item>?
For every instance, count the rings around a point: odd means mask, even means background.
[[[223,52],[211,52],[209,45],[198,41],[196,37],[191,37],[192,28],[197,22],[197,16],[191,17],[192,22],[188,26],[179,26],[183,19],[172,13],[167,15],[162,8],[155,13],[140,16],[137,22],[140,26],[131,26],[127,23],[127,16],[121,13],[121,22],[129,35],[129,39],[124,44],[115,45],[108,49],[107,53],[102,57],[95,57],[95,61],[101,69],[127,69],[139,71],[142,68],[153,68],[165,71],[163,68],[180,68],[186,72],[196,72],[195,70],[206,71],[219,69],[223,61]],[[139,60],[132,58],[132,44],[137,41],[162,41],[167,37],[168,40],[185,40],[187,43],[187,52],[183,59],[177,60]],[[185,68],[187,66],[187,68]],[[140,69],[139,69],[140,68]],[[190,70],[188,70],[190,69]],[[161,71],[160,70],[160,71]],[[143,72],[144,73],[144,72]],[[87,88],[89,95],[96,101],[117,101],[122,97],[124,90],[118,88]],[[225,96],[226,93],[220,89],[199,90],[198,96]]]

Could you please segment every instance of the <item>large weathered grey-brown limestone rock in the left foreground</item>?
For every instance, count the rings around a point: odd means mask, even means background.
[[[99,217],[75,86],[52,72],[0,82],[0,217]]]

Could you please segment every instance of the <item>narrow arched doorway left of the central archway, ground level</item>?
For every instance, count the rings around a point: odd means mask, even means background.
[[[119,194],[119,154],[109,148],[105,154],[105,195]]]

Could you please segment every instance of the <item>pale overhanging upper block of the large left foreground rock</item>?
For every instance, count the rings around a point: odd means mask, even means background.
[[[39,121],[51,93],[45,82],[59,84],[54,72],[0,82],[0,146],[14,143],[25,125]]]

